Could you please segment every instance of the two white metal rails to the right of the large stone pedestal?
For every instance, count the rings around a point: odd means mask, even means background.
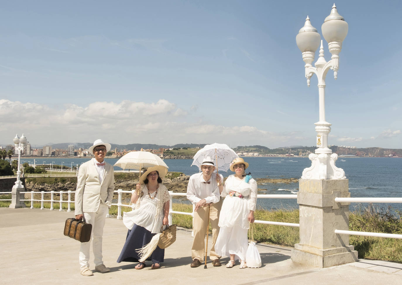
[[[394,197],[364,197],[364,198],[341,198],[336,197],[335,202],[350,202],[350,203],[402,203],[402,198],[394,198]],[[355,230],[335,230],[336,234],[349,234],[356,236],[375,236],[375,237],[384,237],[391,239],[402,239],[402,234],[386,234],[384,232],[357,232]]]

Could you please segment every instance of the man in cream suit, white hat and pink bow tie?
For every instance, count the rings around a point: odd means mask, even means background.
[[[111,145],[101,139],[97,139],[88,149],[94,154],[94,158],[81,165],[75,193],[76,219],[81,220],[84,217],[88,224],[92,224],[95,270],[102,273],[110,271],[102,261],[103,226],[115,190],[113,166],[104,161],[110,149]],[[93,275],[88,263],[90,243],[91,241],[81,243],[80,248],[80,273],[84,276]]]

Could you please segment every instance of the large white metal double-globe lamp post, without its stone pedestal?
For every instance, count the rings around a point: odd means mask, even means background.
[[[307,86],[310,87],[310,78],[313,74],[318,78],[318,100],[319,100],[319,121],[316,125],[316,145],[315,154],[310,154],[309,159],[312,166],[303,171],[301,178],[306,179],[344,179],[345,172],[341,168],[335,166],[338,159],[337,154],[332,154],[328,148],[328,134],[331,131],[330,123],[325,120],[325,77],[330,69],[334,71],[334,78],[338,76],[339,69],[339,53],[342,49],[342,42],[348,33],[348,24],[345,19],[338,14],[336,6],[332,6],[331,13],[325,18],[324,24],[321,26],[322,35],[328,42],[328,48],[332,57],[330,61],[324,59],[324,48],[320,46],[320,34],[306,18],[304,27],[299,30],[296,36],[296,43],[301,51],[303,61],[306,63],[305,75],[307,78]],[[320,46],[320,57],[312,66],[315,52]],[[332,154],[332,155],[331,155]]]

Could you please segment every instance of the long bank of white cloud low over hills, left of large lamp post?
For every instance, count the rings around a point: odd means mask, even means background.
[[[192,109],[197,108],[193,106]],[[276,133],[252,125],[221,125],[160,99],[156,102],[106,102],[61,107],[0,100],[2,144],[25,133],[31,144],[91,142],[102,138],[116,144],[213,143],[273,147],[310,141],[302,132]],[[4,139],[10,138],[10,139]],[[34,147],[34,146],[33,146]]]

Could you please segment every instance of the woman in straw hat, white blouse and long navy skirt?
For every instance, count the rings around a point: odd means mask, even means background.
[[[162,177],[167,173],[163,166],[152,166],[141,176],[136,191],[131,196],[135,210],[124,212],[123,223],[129,229],[123,249],[117,262],[139,262],[139,253],[136,249],[150,243],[152,236],[160,232],[162,224],[168,224],[170,195],[162,184]],[[142,184],[142,185],[141,185]],[[151,269],[158,269],[163,262],[165,250],[156,247],[150,257]],[[135,269],[146,267],[139,262]]]

